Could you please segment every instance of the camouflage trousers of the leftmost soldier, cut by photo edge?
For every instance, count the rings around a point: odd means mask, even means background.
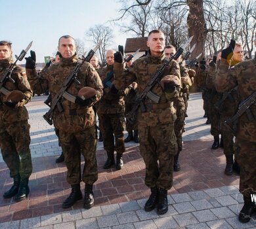
[[[28,121],[0,124],[0,147],[3,160],[10,169],[10,176],[20,174],[30,177],[32,158],[30,153],[30,124]]]

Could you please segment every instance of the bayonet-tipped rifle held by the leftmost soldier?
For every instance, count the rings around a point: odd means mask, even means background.
[[[20,52],[20,56],[17,56],[15,55],[15,62],[14,63],[11,63],[9,65],[9,67],[7,69],[5,69],[3,71],[3,73],[1,74],[1,77],[0,77],[0,92],[2,92],[3,94],[7,94],[9,92],[9,90],[7,90],[6,88],[4,88],[4,84],[5,82],[7,82],[7,80],[10,80],[12,83],[14,83],[14,79],[12,79],[11,75],[12,75],[12,71],[14,69],[14,67],[16,66],[16,63],[18,62],[18,60],[21,62],[24,58],[24,56],[27,54],[28,50],[30,49],[30,47],[32,46],[32,43],[33,41],[28,44],[28,47],[25,49],[25,50],[22,50]]]

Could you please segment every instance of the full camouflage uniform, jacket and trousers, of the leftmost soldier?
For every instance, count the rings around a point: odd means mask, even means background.
[[[12,58],[0,60],[0,72],[9,67]],[[9,90],[20,90],[25,99],[18,107],[5,105],[5,95],[0,94],[0,147],[3,160],[10,169],[10,176],[20,175],[26,179],[32,173],[32,158],[30,154],[30,124],[28,111],[24,105],[31,100],[32,90],[25,74],[25,69],[16,66],[11,75],[15,83],[7,81],[4,87]]]

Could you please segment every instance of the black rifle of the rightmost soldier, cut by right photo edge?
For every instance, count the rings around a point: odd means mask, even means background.
[[[255,117],[253,116],[253,113],[251,113],[251,110],[249,107],[251,105],[256,103],[256,92],[251,94],[251,96],[247,97],[247,99],[244,99],[239,106],[238,106],[238,111],[236,112],[236,115],[232,116],[231,118],[228,118],[228,120],[224,121],[224,125],[233,133],[236,133],[236,130],[234,129],[234,122],[238,120],[238,118],[243,115],[245,112],[247,114],[247,117],[250,122],[255,120]]]

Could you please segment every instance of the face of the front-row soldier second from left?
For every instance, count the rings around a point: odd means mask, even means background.
[[[75,54],[75,41],[71,37],[60,39],[58,44],[58,52],[63,58],[70,58]]]

